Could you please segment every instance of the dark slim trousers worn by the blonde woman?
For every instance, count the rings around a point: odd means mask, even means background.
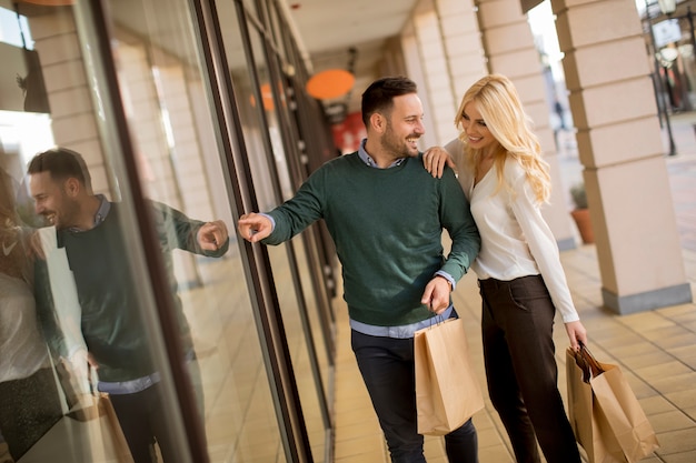
[[[481,333],[490,401],[518,463],[579,463],[558,391],[553,340],[556,309],[540,275],[479,280]],[[536,439],[535,439],[536,437]]]

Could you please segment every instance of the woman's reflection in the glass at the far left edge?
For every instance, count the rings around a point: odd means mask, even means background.
[[[62,416],[38,330],[30,230],[20,227],[12,178],[0,169],[0,431],[14,460]]]

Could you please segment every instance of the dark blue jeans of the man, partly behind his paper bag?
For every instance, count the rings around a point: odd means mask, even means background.
[[[385,433],[391,462],[424,463],[418,434],[414,340],[370,336],[351,331],[362,380]],[[478,436],[471,420],[445,436],[451,463],[478,462]]]

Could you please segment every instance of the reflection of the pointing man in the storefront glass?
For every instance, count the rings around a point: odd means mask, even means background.
[[[133,240],[122,231],[129,218],[119,203],[92,193],[84,161],[73,151],[58,148],[40,153],[31,160],[28,173],[36,211],[56,227],[58,245],[64,248],[74,275],[82,336],[89,363],[97,369],[98,389],[110,394],[135,462],[151,461],[153,441],[165,462],[177,461],[160,396],[160,376],[142,322],[137,290],[141,282],[129,265],[133,255],[129,243]],[[190,329],[176,295],[170,251],[221,256],[229,246],[227,227],[221,221],[191,220],[156,202],[151,203],[151,218],[171,283],[183,356],[195,366]]]

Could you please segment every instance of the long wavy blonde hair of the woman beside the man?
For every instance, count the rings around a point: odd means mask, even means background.
[[[525,113],[517,90],[513,82],[501,74],[489,74],[479,79],[466,91],[455,117],[455,125],[460,130],[459,140],[464,143],[465,162],[471,172],[475,172],[481,150],[471,148],[467,142],[461,127],[464,109],[470,102],[476,102],[486,127],[507,152],[523,167],[531,190],[539,203],[548,201],[550,195],[549,165],[541,158],[541,145],[531,131],[531,119]],[[505,187],[511,191],[503,177],[505,153],[495,154],[495,165],[498,172],[498,188]]]

